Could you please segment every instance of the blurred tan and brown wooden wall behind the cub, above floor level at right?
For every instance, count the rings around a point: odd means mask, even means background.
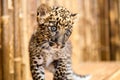
[[[75,66],[120,61],[120,0],[0,0],[0,80],[31,80],[28,42],[41,3],[79,13],[70,37]]]

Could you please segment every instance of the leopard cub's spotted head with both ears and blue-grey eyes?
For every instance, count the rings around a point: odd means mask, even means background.
[[[41,4],[37,9],[37,22],[50,46],[64,47],[72,33],[77,14],[64,7],[49,7]]]

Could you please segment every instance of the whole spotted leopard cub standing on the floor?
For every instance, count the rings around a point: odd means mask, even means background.
[[[64,7],[41,4],[37,9],[38,27],[29,42],[30,68],[33,80],[45,80],[45,69],[53,80],[89,80],[71,68],[69,37],[77,14]]]

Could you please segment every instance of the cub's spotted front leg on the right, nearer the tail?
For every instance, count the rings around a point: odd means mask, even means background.
[[[54,62],[55,73],[53,80],[73,80],[71,60],[68,58],[60,58]]]

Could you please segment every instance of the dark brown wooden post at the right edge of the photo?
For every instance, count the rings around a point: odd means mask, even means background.
[[[110,60],[120,59],[119,0],[110,0]]]

